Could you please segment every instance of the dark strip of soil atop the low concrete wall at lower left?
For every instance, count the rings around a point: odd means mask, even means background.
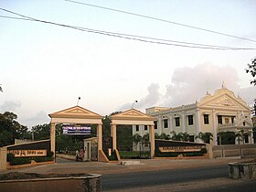
[[[11,172],[11,173],[0,175],[0,180],[53,178],[53,177],[78,177],[78,176],[90,176],[90,175],[88,174],[36,174],[36,173]]]

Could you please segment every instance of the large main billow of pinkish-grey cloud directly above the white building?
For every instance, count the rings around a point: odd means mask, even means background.
[[[174,71],[170,84],[166,85],[164,105],[178,106],[200,100],[207,91],[213,93],[222,82],[235,93],[240,90],[239,76],[232,67],[219,67],[211,63],[197,65],[194,68],[179,68]]]

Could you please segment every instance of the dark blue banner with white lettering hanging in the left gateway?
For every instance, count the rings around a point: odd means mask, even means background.
[[[63,134],[91,134],[91,126],[86,124],[65,124],[62,129]]]

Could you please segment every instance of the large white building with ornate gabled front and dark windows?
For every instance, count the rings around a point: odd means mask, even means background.
[[[251,109],[240,96],[236,97],[223,84],[214,94],[206,96],[195,103],[176,108],[152,107],[146,114],[155,117],[155,133],[188,133],[190,142],[201,142],[196,139],[198,133],[212,133],[211,143],[218,144],[218,133],[245,133],[244,143],[253,144]],[[133,126],[133,134],[144,135],[148,132],[145,126]],[[238,138],[236,144],[239,144]]]

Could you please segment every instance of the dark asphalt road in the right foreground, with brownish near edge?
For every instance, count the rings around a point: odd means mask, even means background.
[[[228,166],[103,175],[102,191],[256,191],[256,180],[233,180]]]

